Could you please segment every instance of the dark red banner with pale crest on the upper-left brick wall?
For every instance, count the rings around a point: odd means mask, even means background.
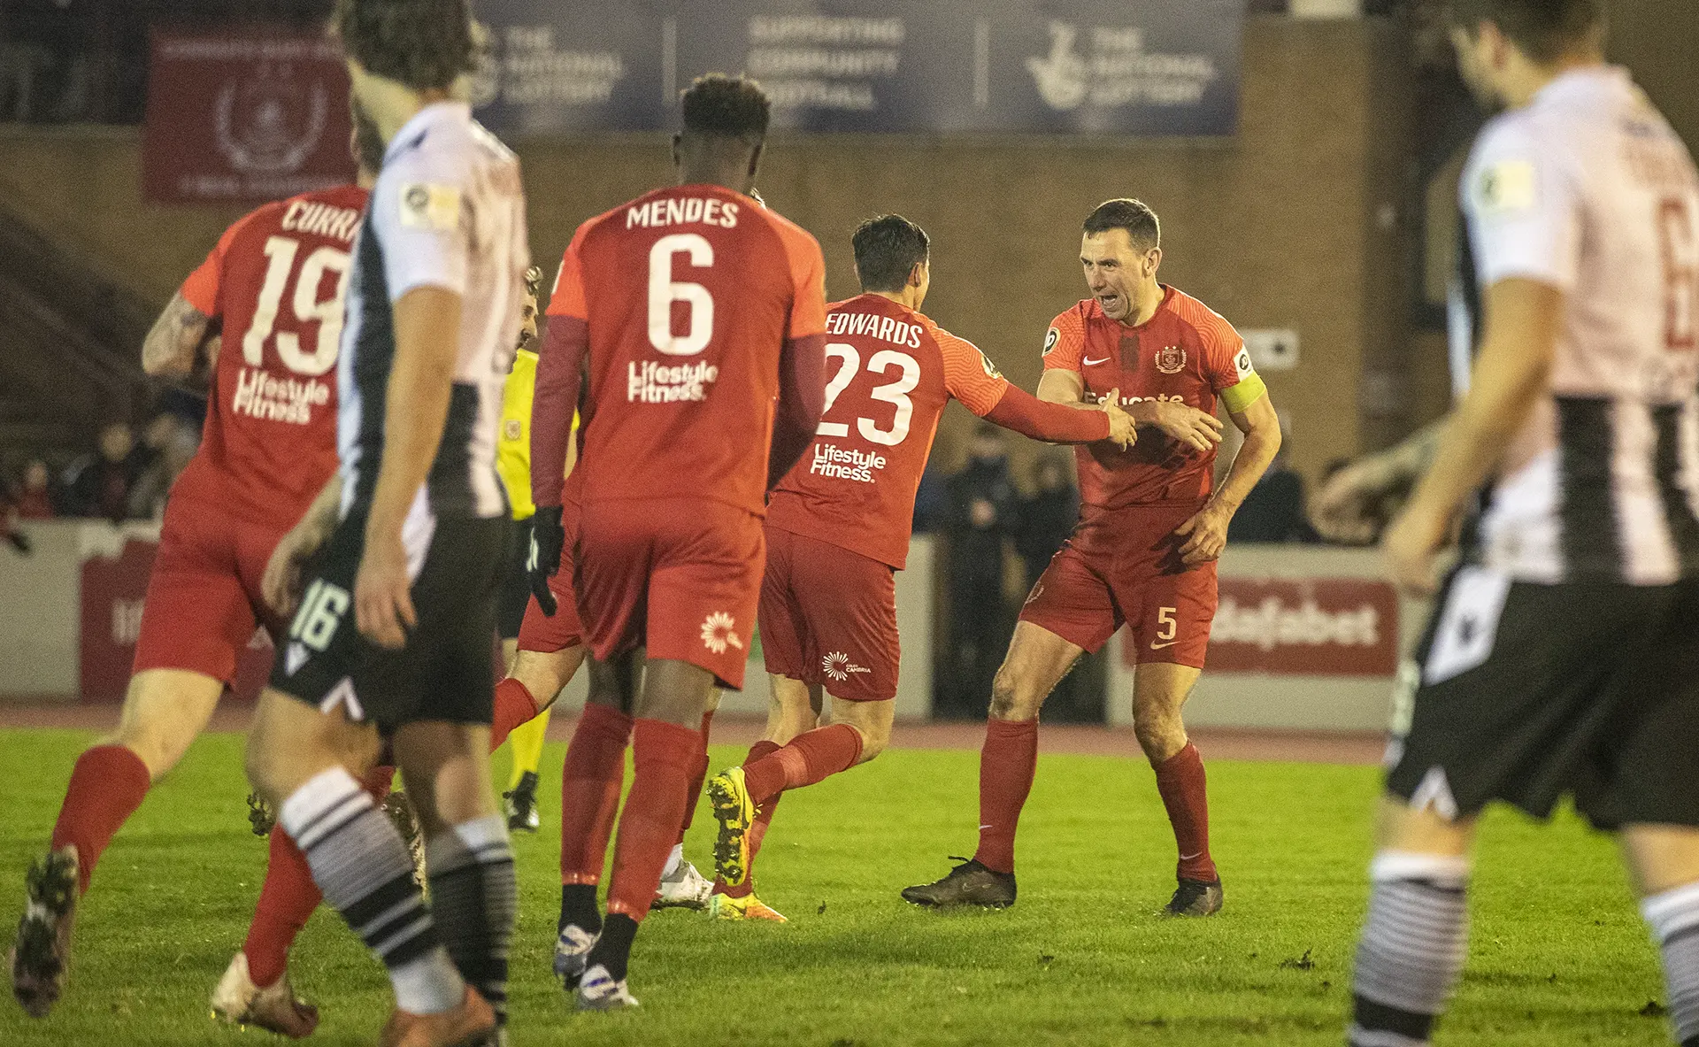
[[[156,32],[143,129],[155,204],[263,204],[353,180],[348,71],[319,32]]]

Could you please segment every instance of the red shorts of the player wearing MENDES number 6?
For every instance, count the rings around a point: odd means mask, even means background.
[[[578,532],[578,612],[590,653],[637,648],[742,688],[761,597],[761,518],[722,501],[586,501]]]

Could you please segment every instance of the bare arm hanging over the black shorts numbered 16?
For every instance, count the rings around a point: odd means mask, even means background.
[[[416,625],[401,525],[442,444],[460,348],[460,294],[421,284],[394,306],[396,357],[384,401],[384,461],[365,518],[365,549],[353,581],[355,622],[372,642],[406,644]]]

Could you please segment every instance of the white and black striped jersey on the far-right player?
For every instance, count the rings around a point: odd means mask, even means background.
[[[1549,389],[1505,449],[1473,557],[1532,583],[1699,576],[1699,175],[1624,70],[1495,117],[1463,177],[1480,287],[1565,292]]]

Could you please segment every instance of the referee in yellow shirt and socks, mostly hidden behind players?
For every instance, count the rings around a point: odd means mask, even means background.
[[[501,433],[496,442],[496,473],[501,474],[501,483],[508,488],[508,503],[513,507],[513,520],[516,522],[513,529],[516,554],[503,581],[501,603],[496,612],[501,654],[510,673],[518,653],[525,605],[530,600],[530,586],[525,581],[525,552],[530,549],[532,515],[537,512],[530,500],[530,408],[537,391],[537,292],[540,286],[542,270],[532,265],[525,272],[520,348],[513,357],[513,371],[508,374],[506,386],[501,389]],[[508,734],[508,744],[513,751],[513,778],[508,782],[508,790],[501,794],[501,801],[510,831],[535,833],[540,823],[537,816],[537,763],[542,760],[542,739],[547,733],[549,709],[545,707],[535,719]]]

